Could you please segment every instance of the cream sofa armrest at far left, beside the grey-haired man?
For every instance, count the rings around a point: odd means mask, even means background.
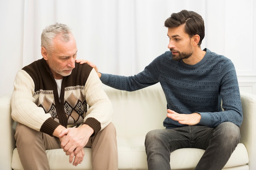
[[[11,170],[12,152],[15,146],[13,120],[11,119],[11,92],[0,97],[0,165],[3,170]]]

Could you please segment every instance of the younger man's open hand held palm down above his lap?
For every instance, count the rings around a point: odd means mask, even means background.
[[[195,125],[201,120],[199,113],[181,114],[171,109],[167,109],[167,117],[172,120],[178,121],[180,124]]]

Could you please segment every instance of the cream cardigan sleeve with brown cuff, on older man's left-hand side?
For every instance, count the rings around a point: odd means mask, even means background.
[[[19,70],[13,83],[13,94],[11,98],[11,117],[31,129],[40,131],[45,122],[54,122],[51,132],[59,124],[55,122],[49,113],[34,103],[34,81],[24,70]],[[49,133],[51,133],[49,132]],[[52,134],[49,134],[52,135]]]

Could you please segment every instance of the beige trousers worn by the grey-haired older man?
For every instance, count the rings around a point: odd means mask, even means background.
[[[20,123],[16,127],[15,139],[24,170],[49,170],[45,150],[61,148],[58,137],[35,131]],[[85,147],[92,148],[92,167],[94,170],[118,169],[114,124],[110,123],[105,129],[90,137]]]

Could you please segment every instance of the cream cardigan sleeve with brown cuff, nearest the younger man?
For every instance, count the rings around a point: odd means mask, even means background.
[[[89,105],[84,124],[94,129],[94,133],[104,129],[112,120],[113,109],[97,72],[92,69],[85,83],[85,99]]]

